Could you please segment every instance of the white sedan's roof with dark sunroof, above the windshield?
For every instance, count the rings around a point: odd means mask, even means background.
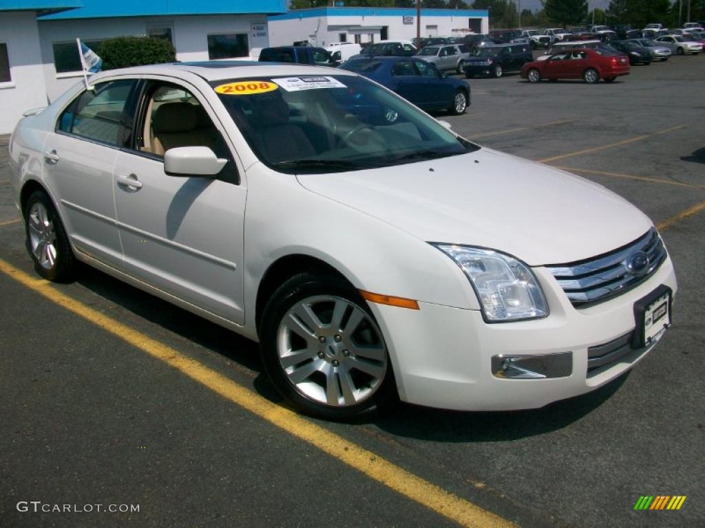
[[[111,75],[174,75],[178,72],[192,73],[207,81],[274,75],[355,75],[354,73],[297,63],[260,63],[255,61],[202,61],[190,63],[153,64],[118,70],[106,70],[92,77],[98,80]]]

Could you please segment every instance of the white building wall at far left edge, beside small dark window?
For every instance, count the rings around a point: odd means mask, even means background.
[[[0,13],[0,42],[7,44],[11,82],[0,82],[0,134],[9,134],[22,113],[47,105],[34,11]]]

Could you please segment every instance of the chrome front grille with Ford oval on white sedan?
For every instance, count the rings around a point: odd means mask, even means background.
[[[570,264],[548,265],[573,306],[580,308],[621,294],[648,279],[666,260],[666,248],[652,227],[615,251]]]

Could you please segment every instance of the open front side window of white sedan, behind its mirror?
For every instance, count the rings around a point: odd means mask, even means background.
[[[140,112],[137,150],[164,158],[168,149],[207,146],[228,163],[218,175],[237,183],[235,163],[223,136],[200,101],[187,89],[165,82],[152,82],[145,90]]]

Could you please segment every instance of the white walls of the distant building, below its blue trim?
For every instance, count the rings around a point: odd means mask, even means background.
[[[467,30],[467,16],[424,16],[421,18],[421,36],[449,37],[450,35],[460,35],[465,33],[453,30]],[[317,34],[317,46],[327,46],[332,42],[339,42],[339,33],[348,34],[348,42],[355,42],[353,36],[355,32],[362,32],[361,41],[369,42],[368,33],[374,34],[374,41],[379,42],[379,30],[345,30],[340,26],[388,26],[387,34],[390,40],[411,40],[416,37],[416,18],[412,25],[403,23],[403,18],[399,15],[382,16],[329,16],[310,18],[291,18],[288,20],[269,20],[269,43],[271,46],[290,46],[294,41],[309,40],[310,35]],[[338,28],[335,28],[338,26]],[[433,29],[427,26],[435,26]],[[329,29],[330,28],[330,29]],[[489,18],[482,18],[482,31],[489,31]],[[313,44],[313,42],[312,42]]]

